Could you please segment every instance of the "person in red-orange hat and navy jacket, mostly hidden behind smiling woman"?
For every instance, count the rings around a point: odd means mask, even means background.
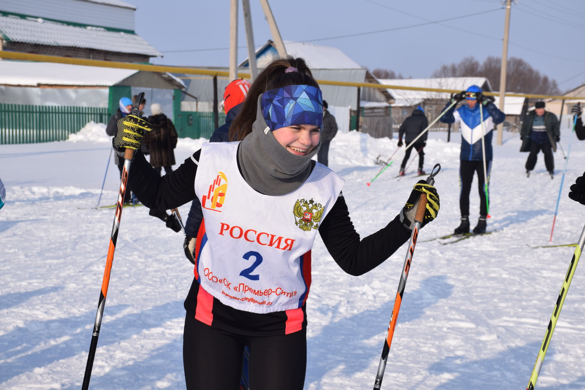
[[[223,91],[223,111],[226,113],[225,124],[219,126],[213,134],[209,142],[229,142],[229,126],[232,125],[233,120],[240,113],[242,103],[246,99],[246,95],[250,90],[250,82],[247,80],[234,80],[225,87]],[[197,232],[203,219],[203,211],[201,210],[201,201],[195,196],[191,202],[187,222],[185,222],[185,242],[183,249],[185,256],[195,264],[195,241],[197,240]]]

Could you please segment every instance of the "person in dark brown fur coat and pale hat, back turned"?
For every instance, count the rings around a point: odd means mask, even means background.
[[[148,117],[148,121],[152,125],[152,131],[144,134],[142,143],[150,151],[150,165],[159,174],[163,167],[165,173],[170,173],[175,164],[177,130],[173,122],[163,114],[163,108],[159,103],[153,103],[150,112],[152,115]]]

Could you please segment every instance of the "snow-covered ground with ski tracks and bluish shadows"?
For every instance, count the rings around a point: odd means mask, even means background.
[[[99,125],[95,125],[99,126]],[[6,205],[0,210],[0,388],[77,389],[87,361],[113,211],[98,201],[109,137],[90,126],[75,141],[0,146]],[[85,134],[85,135],[84,135]],[[459,134],[431,133],[425,168],[442,170],[438,219],[421,231],[384,389],[525,388],[573,248],[548,244],[560,184],[542,154],[526,178],[517,135],[494,147],[491,215],[498,231],[443,246],[459,223]],[[567,150],[568,130],[563,131]],[[202,140],[180,140],[177,161]],[[338,134],[329,158],[362,236],[393,219],[415,183],[393,165],[366,182],[396,140]],[[564,160],[555,154],[557,171]],[[398,165],[400,161],[397,161]],[[416,164],[416,163],[415,163]],[[415,166],[412,165],[412,167]],[[413,168],[411,168],[412,170]],[[577,241],[585,208],[567,198],[585,170],[585,143],[574,141],[553,243]],[[111,161],[101,204],[115,202]],[[472,227],[479,214],[472,189]],[[188,206],[180,208],[184,218]],[[183,236],[145,208],[123,212],[92,389],[183,389],[183,299],[192,280]],[[371,388],[398,287],[405,246],[362,277],[344,274],[318,237],[308,300],[306,389]],[[581,267],[582,268],[582,267]],[[585,275],[577,269],[537,388],[585,389]]]

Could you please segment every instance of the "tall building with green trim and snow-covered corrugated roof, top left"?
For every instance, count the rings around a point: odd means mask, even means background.
[[[2,0],[0,50],[149,63],[159,51],[135,32],[120,0]]]

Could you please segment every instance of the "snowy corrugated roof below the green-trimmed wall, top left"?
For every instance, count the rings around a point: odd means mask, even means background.
[[[16,18],[0,16],[0,33],[11,42],[46,44],[49,46],[82,47],[144,54],[157,57],[161,54],[137,34],[107,31],[101,27],[77,27],[48,22],[42,18]]]

